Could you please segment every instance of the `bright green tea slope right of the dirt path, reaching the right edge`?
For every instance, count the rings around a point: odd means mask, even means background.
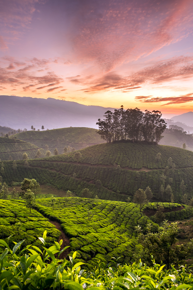
[[[148,204],[145,209],[157,209],[158,205]],[[182,219],[192,215],[192,210],[175,211],[181,204],[163,206],[174,212],[174,216],[183,212]],[[150,222],[152,230],[157,230],[157,224],[140,213],[139,206],[133,203],[63,197],[57,198],[54,211],[48,206],[47,199],[38,200],[36,208],[43,215],[60,222],[70,238],[71,251],[77,251],[78,260],[85,262],[90,269],[96,266],[98,260],[107,263],[111,257],[123,256],[119,262],[130,263],[133,253],[139,253],[141,248],[136,241],[135,226],[139,225],[145,231]]]

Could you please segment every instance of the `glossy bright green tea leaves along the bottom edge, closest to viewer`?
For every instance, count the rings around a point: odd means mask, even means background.
[[[81,270],[83,263],[76,263],[76,252],[70,257],[70,262],[66,259],[60,260],[60,254],[67,248],[60,249],[62,240],[60,243],[55,242],[55,245],[49,249],[45,247],[46,231],[43,233],[43,238],[39,240],[43,243],[43,251],[38,247],[27,245],[23,252],[20,251],[23,240],[15,243],[12,249],[9,240],[8,243],[0,240],[0,244],[5,247],[0,256],[1,290],[88,288],[180,290],[193,287],[191,270],[181,267],[177,271],[172,267],[167,271],[164,265],[160,267],[154,260],[152,260],[153,267],[147,267],[141,261],[124,266],[116,265],[117,263],[112,260],[108,265],[99,261],[98,267],[84,273],[84,270]],[[25,255],[24,251],[27,252]]]

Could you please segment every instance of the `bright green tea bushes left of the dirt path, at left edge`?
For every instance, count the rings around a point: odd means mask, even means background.
[[[48,232],[47,246],[54,244],[60,236],[60,231],[51,224],[47,218],[35,209],[26,208],[23,201],[0,200],[0,239],[19,242],[24,240],[23,247],[27,244],[40,247],[41,242],[38,237]],[[13,244],[14,245],[14,244]]]

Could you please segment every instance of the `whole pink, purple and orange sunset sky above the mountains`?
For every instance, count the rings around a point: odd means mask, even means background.
[[[193,111],[192,0],[2,0],[0,94]]]

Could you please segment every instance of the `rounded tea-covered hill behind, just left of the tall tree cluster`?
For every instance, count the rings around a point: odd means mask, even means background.
[[[79,150],[93,144],[104,143],[96,131],[93,128],[69,127],[48,131],[26,131],[14,136],[41,148],[48,145],[51,152],[57,148],[59,154],[62,154],[64,147],[70,146]]]

